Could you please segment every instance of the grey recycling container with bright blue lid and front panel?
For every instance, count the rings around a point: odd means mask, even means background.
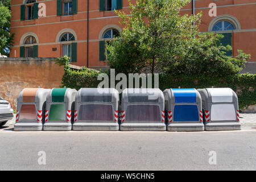
[[[196,89],[166,89],[168,131],[203,131],[202,101]]]

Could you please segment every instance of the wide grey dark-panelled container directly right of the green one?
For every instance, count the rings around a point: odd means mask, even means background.
[[[73,130],[119,130],[119,93],[113,88],[81,88],[76,95]]]

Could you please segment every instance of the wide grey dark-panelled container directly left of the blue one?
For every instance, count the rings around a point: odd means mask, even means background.
[[[123,90],[120,130],[166,131],[163,92],[146,88]]]

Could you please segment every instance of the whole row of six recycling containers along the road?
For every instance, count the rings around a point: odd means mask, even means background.
[[[25,88],[15,131],[241,130],[238,98],[230,88]]]

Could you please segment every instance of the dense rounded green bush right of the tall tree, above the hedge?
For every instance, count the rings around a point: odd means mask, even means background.
[[[231,46],[222,46],[224,36],[206,32],[187,40],[180,51],[165,57],[163,71],[172,76],[217,76],[229,77],[240,73],[250,55],[238,50],[238,56],[229,57],[225,51]]]

